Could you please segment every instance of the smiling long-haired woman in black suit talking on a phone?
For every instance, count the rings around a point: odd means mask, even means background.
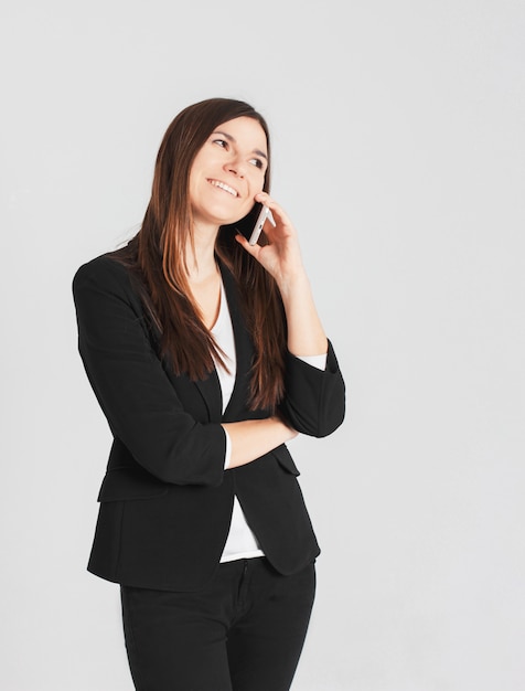
[[[74,279],[114,435],[88,568],[121,585],[139,691],[289,689],[304,641],[319,546],[286,443],[333,432],[344,384],[269,159],[249,105],[185,108],[140,231]]]

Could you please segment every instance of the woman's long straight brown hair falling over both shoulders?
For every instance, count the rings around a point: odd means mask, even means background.
[[[144,290],[142,299],[161,333],[161,354],[176,374],[205,379],[221,352],[204,326],[188,281],[184,248],[193,244],[189,180],[196,153],[214,129],[228,120],[250,117],[262,127],[268,145],[264,190],[270,183],[268,126],[242,100],[210,98],[182,110],[169,126],[157,157],[151,199],[140,231],[117,254],[135,269]],[[248,214],[249,216],[250,214]],[[248,216],[235,224],[242,227]],[[255,355],[251,368],[251,410],[274,411],[283,395],[286,321],[275,280],[234,240],[234,226],[222,226],[216,254],[237,280],[243,311]]]

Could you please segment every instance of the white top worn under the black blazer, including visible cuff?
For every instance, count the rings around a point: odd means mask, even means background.
[[[223,351],[225,363],[229,370],[226,370],[219,362],[215,361],[217,369],[218,382],[221,384],[221,392],[223,396],[223,413],[232,397],[232,392],[235,385],[235,374],[237,370],[237,360],[235,353],[235,339],[234,329],[232,326],[232,319],[229,317],[228,304],[224,291],[224,285],[221,284],[221,305],[218,309],[218,317],[215,326],[212,329],[212,334],[215,342]],[[301,358],[304,362],[308,362],[314,368],[324,370],[326,366],[326,355],[312,355],[309,358]],[[227,468],[232,456],[232,440],[226,430],[226,455],[224,467]],[[246,517],[240,507],[237,497],[234,497],[234,509],[232,513],[232,523],[229,525],[229,533],[224,545],[223,555],[221,556],[221,563],[232,562],[237,559],[251,559],[254,556],[264,556],[264,552],[257,542],[257,538],[250,530]]]

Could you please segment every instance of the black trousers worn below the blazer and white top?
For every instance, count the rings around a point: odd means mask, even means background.
[[[313,564],[282,576],[265,557],[221,564],[196,593],[121,586],[138,691],[288,691],[315,592]]]

